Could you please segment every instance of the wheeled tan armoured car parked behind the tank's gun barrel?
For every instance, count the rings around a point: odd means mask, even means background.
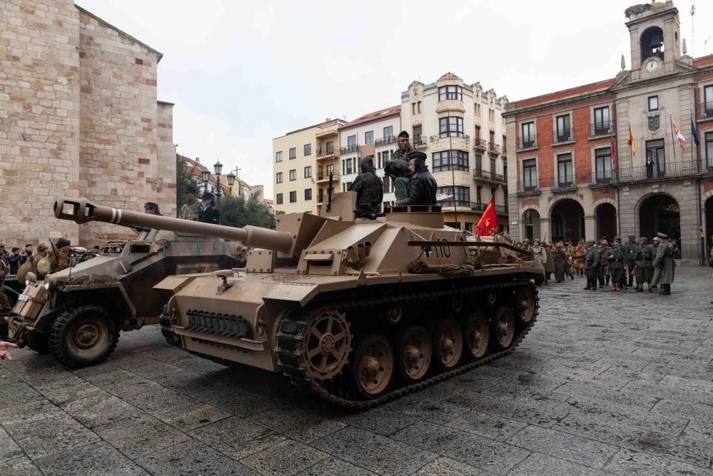
[[[87,210],[76,201],[73,205],[78,213]],[[61,218],[83,222],[81,216]],[[17,343],[49,351],[71,368],[101,363],[116,347],[120,331],[159,323],[171,293],[154,289],[155,284],[169,275],[245,265],[242,243],[205,236],[205,224],[190,223],[195,226],[189,231],[171,231],[144,221],[138,239],[108,241],[100,255],[76,255],[73,248],[75,265],[43,283],[29,280],[19,294],[6,318]]]

